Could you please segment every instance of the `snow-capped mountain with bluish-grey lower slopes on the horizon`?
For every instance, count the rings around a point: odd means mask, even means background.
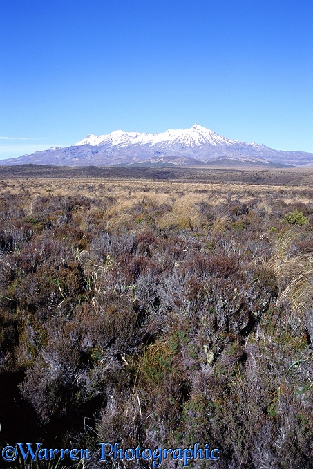
[[[88,135],[66,148],[50,148],[2,160],[1,165],[33,163],[57,166],[112,165],[296,165],[313,166],[313,154],[278,151],[258,143],[229,140],[195,124],[190,129],[169,129],[160,134],[116,130]]]

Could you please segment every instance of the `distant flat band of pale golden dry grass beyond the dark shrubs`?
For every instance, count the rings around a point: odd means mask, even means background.
[[[114,196],[118,203],[123,202],[125,208],[132,203],[145,200],[151,203],[175,204],[175,212],[188,210],[190,203],[196,203],[203,199],[211,204],[219,204],[229,199],[237,199],[240,202],[249,202],[255,197],[266,200],[273,196],[276,201],[290,203],[310,203],[311,193],[307,187],[286,187],[284,185],[255,185],[253,183],[212,183],[212,182],[176,182],[176,181],[151,181],[145,179],[84,179],[75,181],[70,179],[41,179],[41,178],[12,178],[0,180],[0,194],[27,194],[28,207],[38,196],[55,195],[86,196],[102,198]]]

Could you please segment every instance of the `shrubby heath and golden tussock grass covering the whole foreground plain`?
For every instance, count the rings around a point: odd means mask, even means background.
[[[222,457],[198,468],[312,467],[312,195],[3,179],[2,445],[199,442]]]

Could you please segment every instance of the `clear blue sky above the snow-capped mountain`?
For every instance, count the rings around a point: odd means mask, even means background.
[[[313,152],[312,0],[3,1],[0,57],[0,158],[195,122]]]

